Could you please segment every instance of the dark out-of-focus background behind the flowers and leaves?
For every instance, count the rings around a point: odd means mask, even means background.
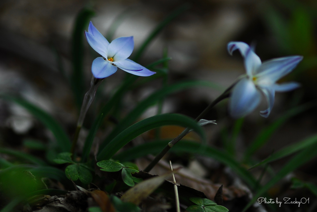
[[[188,9],[171,21],[146,48],[139,63],[146,66],[163,56],[169,62],[168,84],[180,80],[207,80],[215,88],[195,88],[169,96],[163,112],[178,112],[195,118],[212,100],[245,73],[243,58],[237,51],[230,56],[226,45],[243,41],[256,46],[262,61],[271,58],[303,55],[304,59],[282,81],[298,81],[301,88],[289,93],[277,93],[275,106],[265,119],[261,106],[244,120],[228,116],[227,101],[221,102],[205,119],[217,120],[218,125],[206,127],[209,142],[220,147],[228,139],[235,139],[235,157],[242,153],[265,127],[288,110],[303,104],[314,104],[317,96],[317,1],[315,0],[156,0],[156,1],[74,1],[74,0],[2,0],[0,2],[0,92],[15,93],[53,114],[72,135],[75,130],[81,101],[74,97],[69,79],[72,76],[72,42],[75,20],[83,8],[94,11],[91,21],[109,41],[134,37],[135,49],[171,12],[186,4]],[[117,28],[111,25],[116,21]],[[86,27],[87,29],[87,27]],[[84,31],[82,31],[84,39]],[[135,51],[134,51],[135,53]],[[92,77],[91,63],[98,56],[84,40],[82,70],[86,92]],[[132,55],[133,56],[133,55]],[[118,71],[100,86],[99,98],[89,110],[85,125],[89,128],[98,109],[105,104],[124,78]],[[74,86],[74,85],[73,85]],[[148,83],[128,93],[121,103],[120,117],[137,102],[162,87],[162,81]],[[97,95],[97,96],[98,96]],[[102,97],[102,98],[100,98]],[[156,114],[156,107],[144,117]],[[308,107],[283,122],[268,142],[256,153],[262,160],[272,151],[298,142],[316,133],[316,107]],[[239,125],[240,123],[240,125]],[[241,132],[234,135],[234,129]],[[49,133],[22,108],[0,100],[0,143],[18,148],[23,139],[47,140]],[[162,131],[162,137],[173,138],[179,129]],[[277,168],[281,161],[276,162]],[[285,162],[285,160],[282,160]],[[306,164],[300,174],[316,183],[315,163]],[[283,164],[283,163],[282,163]],[[221,180],[218,179],[221,183]]]

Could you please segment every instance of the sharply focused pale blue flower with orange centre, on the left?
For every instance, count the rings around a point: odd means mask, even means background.
[[[138,76],[155,74],[155,72],[127,59],[134,48],[133,36],[119,37],[109,43],[92,22],[89,23],[88,32],[85,31],[85,35],[89,45],[102,56],[94,59],[91,67],[95,78],[108,77],[117,71],[117,67]]]

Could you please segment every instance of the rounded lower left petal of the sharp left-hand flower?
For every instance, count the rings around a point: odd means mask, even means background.
[[[96,78],[105,78],[114,74],[117,71],[117,67],[110,64],[110,62],[105,61],[102,57],[97,57],[94,59],[91,66],[91,71]]]

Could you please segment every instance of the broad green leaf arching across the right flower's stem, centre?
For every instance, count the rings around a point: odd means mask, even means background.
[[[124,145],[142,133],[165,125],[179,125],[183,127],[189,127],[194,129],[201,136],[203,141],[206,140],[203,129],[194,119],[180,114],[161,114],[144,119],[126,128],[100,151],[100,153],[97,155],[97,160],[110,159]]]

